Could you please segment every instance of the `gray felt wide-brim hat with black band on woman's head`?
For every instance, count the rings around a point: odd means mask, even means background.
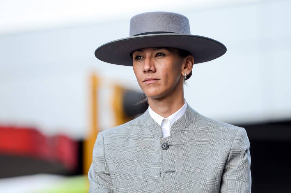
[[[111,64],[132,66],[131,53],[150,47],[172,47],[189,51],[194,64],[222,56],[226,47],[221,42],[204,36],[190,34],[189,20],[172,12],[146,12],[130,20],[129,37],[99,46],[95,56]]]

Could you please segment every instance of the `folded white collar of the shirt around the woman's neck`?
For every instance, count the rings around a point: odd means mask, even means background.
[[[150,116],[152,117],[152,119],[155,120],[155,122],[157,122],[159,125],[162,125],[162,122],[164,119],[168,119],[170,121],[170,125],[172,125],[175,121],[177,121],[180,117],[182,117],[182,115],[184,115],[186,108],[187,108],[187,103],[185,100],[184,105],[175,113],[168,116],[167,118],[162,117],[161,115],[157,114],[155,111],[152,110],[152,108],[150,108],[150,106],[148,106],[148,112],[150,113]]]

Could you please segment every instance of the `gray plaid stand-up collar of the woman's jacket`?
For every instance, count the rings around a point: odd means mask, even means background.
[[[194,120],[196,114],[197,111],[191,108],[187,103],[185,113],[182,115],[182,117],[180,117],[177,121],[175,121],[172,124],[170,128],[170,134],[173,135],[188,127],[188,125]],[[162,137],[161,126],[157,122],[155,122],[155,120],[153,120],[153,118],[150,116],[150,113],[148,112],[148,109],[143,113],[141,118],[143,120],[142,121],[143,127],[148,128],[153,133],[159,134]]]

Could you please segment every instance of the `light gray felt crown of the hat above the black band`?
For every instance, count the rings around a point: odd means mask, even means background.
[[[178,13],[155,11],[130,19],[129,36],[161,33],[190,34],[188,18]]]

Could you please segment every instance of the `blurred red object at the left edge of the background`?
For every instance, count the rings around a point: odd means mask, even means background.
[[[65,135],[47,137],[35,128],[0,125],[0,154],[61,162],[74,170],[78,164],[78,143]]]

